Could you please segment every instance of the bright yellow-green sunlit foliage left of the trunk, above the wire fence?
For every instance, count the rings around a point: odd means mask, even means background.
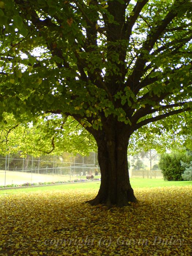
[[[20,152],[23,157],[63,152],[87,155],[96,150],[93,136],[70,117],[64,122],[61,116],[45,114],[31,123],[19,123],[11,114],[6,114],[6,119],[0,123],[1,155],[7,152]]]

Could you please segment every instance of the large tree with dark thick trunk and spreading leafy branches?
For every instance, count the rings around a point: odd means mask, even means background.
[[[0,1],[1,110],[72,116],[95,138],[90,203],[136,202],[133,132],[191,109],[191,0]]]

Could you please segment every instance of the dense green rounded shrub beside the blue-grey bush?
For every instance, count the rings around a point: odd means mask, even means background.
[[[162,170],[164,180],[184,180],[182,174],[185,171],[185,167],[181,165],[181,161],[189,162],[189,157],[185,153],[165,153],[161,155],[159,167]]]

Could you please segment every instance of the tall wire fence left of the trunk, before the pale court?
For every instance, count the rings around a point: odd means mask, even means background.
[[[100,169],[94,164],[63,161],[42,161],[40,158],[0,157],[0,186],[12,184],[73,181],[86,179],[87,174],[99,177]]]

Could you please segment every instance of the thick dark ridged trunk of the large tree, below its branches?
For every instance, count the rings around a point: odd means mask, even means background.
[[[101,170],[101,185],[91,205],[105,204],[123,207],[136,202],[128,172],[128,138],[118,132],[105,131],[99,138],[98,162]]]

